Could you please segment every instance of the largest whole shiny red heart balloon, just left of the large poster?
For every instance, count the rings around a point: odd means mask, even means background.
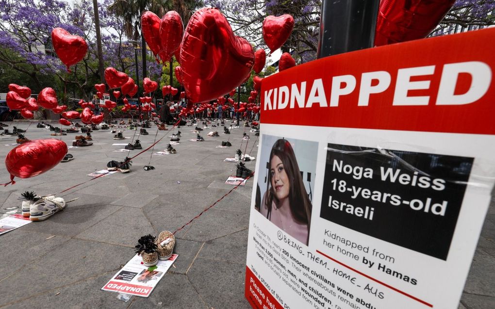
[[[245,39],[234,36],[217,8],[193,14],[181,44],[182,81],[188,98],[205,102],[237,88],[249,77],[254,51]]]

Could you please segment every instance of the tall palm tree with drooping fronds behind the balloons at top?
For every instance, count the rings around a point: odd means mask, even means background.
[[[128,38],[137,41],[141,36],[143,77],[147,77],[146,41],[141,35],[141,15],[148,10],[161,17],[169,10],[176,10],[183,22],[187,23],[193,10],[202,4],[202,0],[114,0],[108,9],[124,19],[124,30]]]

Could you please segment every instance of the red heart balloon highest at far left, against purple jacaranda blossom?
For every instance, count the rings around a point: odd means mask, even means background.
[[[65,29],[54,28],[51,31],[51,42],[58,58],[69,67],[81,61],[88,51],[88,44],[83,38],[73,36]]]

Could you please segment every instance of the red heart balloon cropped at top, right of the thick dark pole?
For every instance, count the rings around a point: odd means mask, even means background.
[[[378,9],[375,45],[422,39],[435,29],[455,0],[382,0]]]

